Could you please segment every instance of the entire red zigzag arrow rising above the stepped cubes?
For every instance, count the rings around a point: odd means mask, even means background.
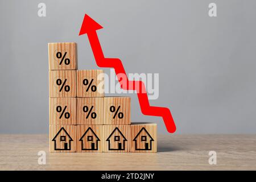
[[[123,68],[123,64],[120,59],[104,57],[100,40],[98,40],[98,35],[96,32],[96,30],[99,30],[101,28],[103,27],[100,24],[98,24],[92,18],[90,18],[90,16],[85,14],[79,32],[79,35],[87,34],[97,65],[104,68],[114,68],[121,88],[125,90],[137,91],[139,105],[141,106],[142,113],[145,115],[163,117],[163,121],[166,125],[167,131],[170,133],[174,133],[176,130],[176,126],[174,123],[174,119],[172,118],[171,111],[167,107],[150,106],[144,83],[142,81],[129,81],[125,73],[125,68]],[[138,84],[139,88],[134,88],[134,86]]]

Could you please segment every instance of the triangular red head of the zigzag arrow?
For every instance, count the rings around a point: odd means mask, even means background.
[[[82,26],[79,32],[79,35],[87,34],[91,31],[96,31],[103,28],[100,24],[95,22],[90,16],[84,15],[84,20],[82,21]]]

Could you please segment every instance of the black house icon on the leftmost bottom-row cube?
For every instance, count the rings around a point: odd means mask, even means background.
[[[54,141],[54,150],[71,150],[71,141],[73,141],[73,139],[64,127],[61,127],[52,141]]]

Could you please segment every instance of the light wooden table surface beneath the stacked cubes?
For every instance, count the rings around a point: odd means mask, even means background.
[[[38,152],[46,151],[46,165]],[[210,165],[209,151],[217,152]],[[0,135],[0,170],[256,170],[256,135],[159,135],[158,152],[50,153],[47,135]]]

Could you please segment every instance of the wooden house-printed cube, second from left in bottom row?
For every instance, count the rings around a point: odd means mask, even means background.
[[[102,152],[103,125],[77,125],[77,152]]]

